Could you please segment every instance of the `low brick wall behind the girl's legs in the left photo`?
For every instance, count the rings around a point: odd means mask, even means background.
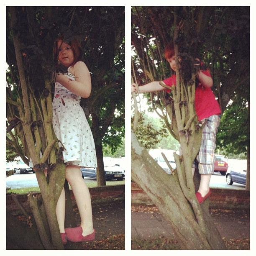
[[[125,199],[125,185],[114,185],[114,186],[102,186],[102,187],[90,187],[90,195],[92,204],[98,202],[106,202],[113,200],[124,200]],[[33,193],[34,196],[40,195],[39,192]],[[70,190],[71,199],[73,205],[76,205],[72,190]],[[15,195],[18,202],[29,212],[29,203],[27,200],[27,194]],[[20,207],[15,203],[11,195],[6,195],[6,210],[13,215],[19,214]]]

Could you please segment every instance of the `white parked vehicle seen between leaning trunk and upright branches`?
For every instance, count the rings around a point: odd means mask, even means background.
[[[148,151],[148,154],[150,154],[153,157],[153,159],[159,164],[159,166],[161,166],[164,169],[166,173],[171,174],[171,170],[169,166],[166,164],[166,161],[164,160],[162,153],[166,156],[172,168],[175,169],[176,164],[173,156],[174,152],[175,150],[171,149],[154,148],[150,149]]]

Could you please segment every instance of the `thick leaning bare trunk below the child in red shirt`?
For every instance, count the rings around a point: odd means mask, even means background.
[[[209,212],[202,210],[194,195],[192,201],[184,196],[177,172],[169,175],[139,145],[136,136],[131,136],[131,175],[152,202],[159,208],[174,230],[182,249],[225,249],[222,238],[210,220]],[[197,212],[192,205],[197,205]],[[193,206],[195,207],[195,206]],[[205,207],[205,206],[204,206]],[[206,206],[207,209],[207,206]]]

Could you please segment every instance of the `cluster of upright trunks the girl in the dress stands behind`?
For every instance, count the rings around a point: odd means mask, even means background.
[[[28,200],[44,247],[46,249],[63,249],[55,210],[57,200],[64,186],[66,171],[63,161],[58,159],[59,154],[55,154],[57,146],[55,147],[54,145],[56,145],[57,140],[54,138],[52,127],[51,94],[48,93],[41,97],[40,100],[36,100],[35,95],[30,90],[31,84],[29,84],[25,76],[21,42],[19,34],[15,29],[17,18],[18,12],[16,12],[16,7],[11,6],[10,21],[22,92],[22,97],[18,97],[18,113],[21,121],[20,130],[23,131],[23,145],[27,147],[25,149],[24,146],[23,155],[28,156],[28,159],[31,157],[33,169],[41,190],[40,202],[32,195],[28,196]],[[45,90],[51,91],[50,80],[45,79],[44,81]],[[37,119],[36,114],[39,111],[38,108],[40,108],[39,119]],[[36,122],[36,125],[32,128],[31,124],[33,122]],[[44,124],[43,135],[40,134],[41,128],[38,123]],[[44,173],[46,168],[48,169],[47,178]]]

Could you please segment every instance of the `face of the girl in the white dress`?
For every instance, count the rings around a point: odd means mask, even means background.
[[[59,41],[58,44],[59,55],[58,60],[65,67],[70,67],[74,62],[74,52],[71,46],[65,42]]]

